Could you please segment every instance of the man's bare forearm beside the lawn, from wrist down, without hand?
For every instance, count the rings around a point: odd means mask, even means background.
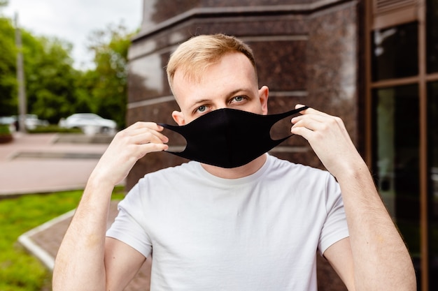
[[[53,290],[105,290],[104,244],[111,185],[90,178],[64,236],[53,270]]]

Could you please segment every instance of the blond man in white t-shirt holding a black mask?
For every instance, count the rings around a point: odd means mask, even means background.
[[[267,115],[269,90],[259,89],[253,54],[236,38],[188,40],[167,73],[179,126],[223,108]],[[317,251],[348,290],[416,290],[407,248],[343,122],[301,113],[291,132],[331,175],[268,154],[237,167],[191,161],[141,179],[106,234],[113,187],[139,158],[168,149],[155,123],[122,130],[87,182],[54,290],[123,290],[151,253],[151,290],[317,290]]]

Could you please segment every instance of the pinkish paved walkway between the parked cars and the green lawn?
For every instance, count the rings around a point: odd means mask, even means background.
[[[83,188],[108,144],[60,138],[53,133],[15,133],[13,142],[0,144],[0,195]]]

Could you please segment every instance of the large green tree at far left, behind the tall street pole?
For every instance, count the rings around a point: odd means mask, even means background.
[[[6,1],[0,2],[0,7]],[[27,112],[57,123],[74,112],[74,70],[70,43],[22,31]],[[17,48],[12,20],[0,17],[0,115],[17,114]]]

